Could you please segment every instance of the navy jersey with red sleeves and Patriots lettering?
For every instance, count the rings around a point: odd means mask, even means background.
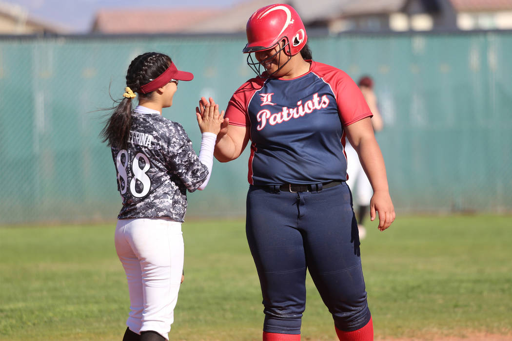
[[[314,61],[294,79],[248,80],[225,115],[229,124],[250,127],[251,185],[346,180],[344,127],[371,116],[350,76]]]

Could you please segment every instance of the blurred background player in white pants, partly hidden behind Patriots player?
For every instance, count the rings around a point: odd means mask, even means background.
[[[359,79],[357,84],[359,85],[361,93],[365,97],[365,100],[373,113],[371,121],[374,132],[382,130],[383,122],[377,106],[377,97],[373,92],[372,78],[369,76],[363,76]],[[352,190],[354,206],[357,206],[356,217],[359,229],[359,239],[364,239],[366,236],[366,229],[363,222],[370,208],[370,200],[373,195],[372,185],[366,176],[365,170],[359,162],[357,152],[348,141],[345,146],[345,152],[347,154],[347,174],[349,175],[347,184]]]

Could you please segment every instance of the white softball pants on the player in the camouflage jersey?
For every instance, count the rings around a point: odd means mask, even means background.
[[[115,244],[130,292],[126,325],[135,333],[154,330],[168,339],[183,271],[181,223],[120,219]]]

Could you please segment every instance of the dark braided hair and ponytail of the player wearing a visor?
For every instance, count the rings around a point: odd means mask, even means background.
[[[140,87],[160,76],[171,62],[169,56],[158,52],[146,52],[135,57],[126,73],[126,86],[137,93],[139,98],[150,98],[152,92],[142,94]],[[110,108],[114,111],[106,120],[100,135],[109,146],[124,149],[132,126],[132,98],[123,97],[116,103],[119,104]]]

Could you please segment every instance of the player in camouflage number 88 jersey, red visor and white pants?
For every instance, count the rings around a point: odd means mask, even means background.
[[[186,191],[206,187],[224,115],[209,103],[197,108],[202,132],[198,157],[183,127],[161,115],[162,108],[173,104],[178,81],[193,78],[164,54],[137,56],[126,74],[124,99],[102,130],[123,199],[115,232],[130,292],[123,341],[168,339],[174,320],[183,271]],[[132,110],[135,93],[139,105]]]

